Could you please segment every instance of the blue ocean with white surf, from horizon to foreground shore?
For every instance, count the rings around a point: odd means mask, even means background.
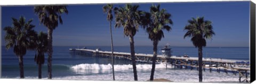
[[[158,47],[158,54],[163,46]],[[99,58],[91,56],[79,56],[71,54],[69,48],[77,46],[54,46],[52,56],[52,79],[62,80],[113,80],[110,58]],[[79,47],[79,48],[82,48]],[[102,51],[110,51],[109,46],[87,46],[88,49],[101,48]],[[172,55],[188,55],[197,57],[198,51],[195,47],[170,47]],[[130,52],[130,46],[114,46],[115,52]],[[135,46],[135,53],[153,54],[153,46]],[[25,79],[38,78],[38,66],[34,62],[35,51],[27,51],[24,56]],[[249,47],[204,47],[203,57],[227,58],[233,60],[248,60]],[[5,49],[2,46],[2,77],[19,78],[18,57],[13,49]],[[130,61],[115,60],[115,79],[117,81],[133,81],[133,71]],[[137,63],[138,80],[146,81],[150,78],[151,64]],[[42,78],[47,79],[47,53],[42,68]],[[198,71],[196,69],[173,68],[168,64],[167,69],[164,63],[156,64],[155,79],[164,78],[174,82],[198,82]],[[203,71],[203,82],[239,82],[239,75],[231,72],[218,73],[213,69]],[[249,77],[250,79],[250,77]]]

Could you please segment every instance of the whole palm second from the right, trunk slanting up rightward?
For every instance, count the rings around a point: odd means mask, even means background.
[[[150,81],[154,80],[154,72],[157,58],[157,45],[158,42],[164,38],[163,30],[170,31],[172,28],[169,24],[173,24],[171,14],[167,13],[165,9],[160,9],[160,5],[152,5],[150,13],[146,13],[145,18],[142,19],[143,28],[146,28],[148,38],[153,41],[153,64],[150,75]]]

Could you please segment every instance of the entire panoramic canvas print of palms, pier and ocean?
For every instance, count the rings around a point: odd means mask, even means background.
[[[251,81],[249,1],[1,9],[1,78]]]

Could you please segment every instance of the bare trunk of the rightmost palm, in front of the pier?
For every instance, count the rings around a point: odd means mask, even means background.
[[[203,53],[202,53],[203,49],[202,46],[198,47],[198,65],[199,65],[199,82],[202,82],[203,80],[203,73],[202,73],[202,58],[203,58]]]

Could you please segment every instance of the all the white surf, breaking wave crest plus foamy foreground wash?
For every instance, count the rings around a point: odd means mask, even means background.
[[[117,81],[134,81],[132,65],[114,65],[115,79]],[[198,82],[198,71],[196,69],[171,69],[171,65],[167,66],[169,69],[165,70],[165,63],[156,64],[155,79],[164,78],[174,82]],[[111,64],[78,64],[70,66],[70,69],[77,75],[55,76],[53,79],[64,80],[113,80]],[[138,64],[137,73],[139,81],[146,81],[150,78],[151,64]],[[2,77],[7,78],[7,77]],[[19,77],[17,77],[18,79]],[[26,79],[37,79],[35,77],[25,77]],[[43,78],[47,79],[47,78]],[[239,74],[234,75],[231,72],[225,73],[217,71],[210,72],[203,71],[203,82],[239,82]],[[245,77],[242,78],[244,80]],[[250,80],[250,75],[248,77]]]

